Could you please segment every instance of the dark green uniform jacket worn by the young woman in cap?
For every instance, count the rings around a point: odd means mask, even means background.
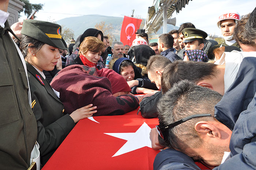
[[[60,146],[75,122],[64,114],[64,106],[54,93],[52,87],[41,74],[26,62],[32,110],[37,120],[37,142],[40,145],[41,164],[44,165],[53,152]]]

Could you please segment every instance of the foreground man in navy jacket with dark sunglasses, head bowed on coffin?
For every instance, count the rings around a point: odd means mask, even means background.
[[[256,169],[255,89],[240,93],[242,89],[233,87],[222,97],[182,80],[163,95],[158,104],[158,131],[167,148],[156,156],[154,169],[200,170],[193,160],[214,170]],[[230,97],[249,100],[237,106],[229,104]]]

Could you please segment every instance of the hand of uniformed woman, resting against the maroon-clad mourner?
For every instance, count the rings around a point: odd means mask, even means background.
[[[91,117],[94,113],[97,112],[97,110],[94,110],[97,108],[97,106],[92,107],[93,104],[81,107],[80,109],[75,110],[70,114],[70,117],[74,120],[74,122],[78,122],[81,119]],[[92,111],[91,111],[92,110]]]

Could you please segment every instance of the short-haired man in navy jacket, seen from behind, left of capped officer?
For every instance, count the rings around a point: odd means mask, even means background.
[[[158,37],[158,50],[162,56],[165,56],[170,61],[181,60],[173,48],[173,37],[170,34],[162,34]]]

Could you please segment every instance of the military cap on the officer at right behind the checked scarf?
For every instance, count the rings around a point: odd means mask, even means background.
[[[183,42],[191,42],[197,39],[205,39],[208,36],[206,32],[195,28],[185,28],[182,30],[182,34],[185,37],[183,39]]]

